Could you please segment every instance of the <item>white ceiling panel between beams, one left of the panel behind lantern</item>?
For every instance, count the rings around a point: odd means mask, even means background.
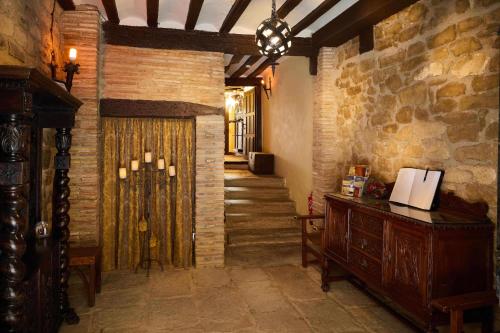
[[[177,0],[179,1],[179,0]],[[188,0],[182,0],[188,2]],[[219,31],[235,0],[205,0],[195,30]]]

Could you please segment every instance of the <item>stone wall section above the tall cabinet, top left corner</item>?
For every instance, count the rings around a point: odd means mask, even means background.
[[[53,41],[50,37],[53,6]],[[60,17],[62,8],[55,0],[2,1],[0,5],[0,64],[36,67],[50,76],[51,49],[54,47],[61,78],[63,64]]]

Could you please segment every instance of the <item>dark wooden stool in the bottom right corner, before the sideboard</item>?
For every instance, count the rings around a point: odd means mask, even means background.
[[[464,329],[464,311],[486,308],[482,322],[482,332],[493,332],[493,309],[498,304],[495,291],[485,291],[435,299],[432,307],[450,314],[450,333],[462,333]]]

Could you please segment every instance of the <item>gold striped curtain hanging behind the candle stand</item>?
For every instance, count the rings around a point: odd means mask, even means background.
[[[144,233],[139,232],[139,225],[145,221],[146,211],[151,212],[151,258],[164,265],[191,266],[193,121],[103,118],[102,126],[103,269],[138,265],[140,247],[146,243],[142,243]],[[145,169],[145,152],[152,152],[152,172]],[[157,172],[159,158],[165,159],[163,172]],[[132,160],[139,161],[139,171],[131,171]],[[175,166],[175,177],[168,175],[169,165]],[[127,169],[126,179],[119,179],[119,168]]]

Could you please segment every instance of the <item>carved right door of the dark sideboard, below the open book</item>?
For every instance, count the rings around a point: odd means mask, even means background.
[[[382,283],[402,305],[427,304],[430,234],[405,222],[385,221]]]

